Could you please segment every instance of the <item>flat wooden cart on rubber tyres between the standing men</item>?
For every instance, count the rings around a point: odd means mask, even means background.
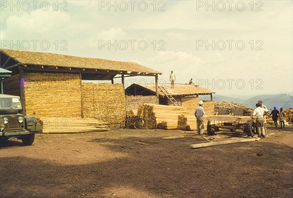
[[[254,121],[249,116],[219,115],[207,116],[204,119],[208,120],[207,132],[210,136],[219,129],[230,129],[231,132],[241,129],[249,137],[254,136]]]

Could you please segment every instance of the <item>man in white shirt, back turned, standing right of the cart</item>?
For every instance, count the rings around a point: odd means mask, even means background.
[[[266,138],[264,116],[267,113],[269,113],[269,110],[262,108],[259,103],[256,103],[255,106],[256,106],[256,109],[254,109],[252,116],[256,117],[256,127],[257,127],[258,137]]]

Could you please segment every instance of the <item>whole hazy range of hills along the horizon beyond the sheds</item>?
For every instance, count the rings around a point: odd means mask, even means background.
[[[277,109],[280,109],[281,107],[283,109],[290,109],[293,107],[293,96],[290,94],[277,94],[277,95],[259,95],[259,96],[253,96],[249,99],[242,99],[245,98],[243,96],[239,96],[241,98],[234,98],[230,96],[223,96],[223,95],[217,95],[213,94],[212,99],[214,101],[232,101],[239,104],[243,104],[250,108],[255,108],[255,104],[258,100],[262,100],[264,105],[267,106],[268,109],[273,109],[275,106]],[[210,96],[199,96],[199,99],[201,100],[208,100],[210,99]]]

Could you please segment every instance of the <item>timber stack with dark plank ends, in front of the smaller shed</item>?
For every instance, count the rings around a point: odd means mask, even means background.
[[[148,129],[177,129],[178,116],[181,115],[188,115],[185,108],[159,104],[141,104],[137,111],[137,116],[144,119]]]

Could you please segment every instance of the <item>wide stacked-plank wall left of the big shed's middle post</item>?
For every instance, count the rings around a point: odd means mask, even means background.
[[[28,116],[81,118],[78,74],[24,73],[24,98]]]

